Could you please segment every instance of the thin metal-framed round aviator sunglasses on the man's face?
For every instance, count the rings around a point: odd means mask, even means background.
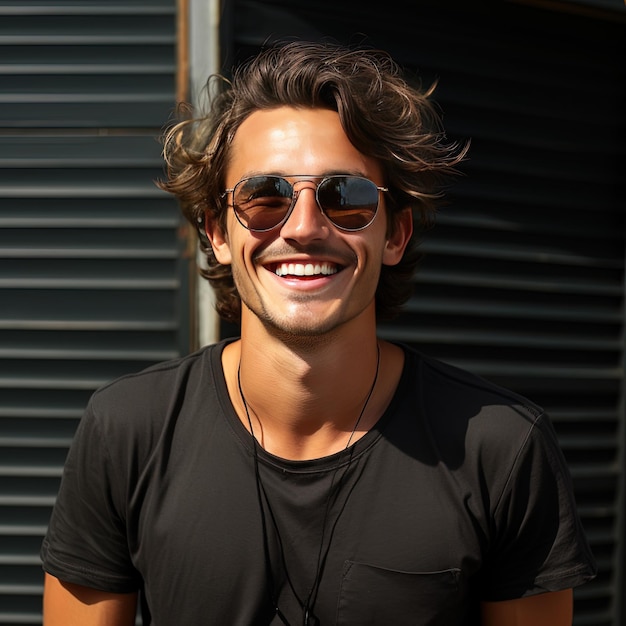
[[[310,182],[318,176],[290,176]],[[243,178],[222,198],[232,193],[232,207],[239,223],[248,230],[262,233],[284,224],[291,215],[299,191],[282,176]],[[322,213],[341,230],[367,228],[378,211],[378,194],[389,191],[362,176],[326,176],[315,188],[315,199]]]

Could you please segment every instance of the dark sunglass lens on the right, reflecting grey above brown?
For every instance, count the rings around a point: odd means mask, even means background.
[[[317,196],[328,219],[344,230],[365,228],[376,216],[378,189],[366,178],[331,176],[319,186]]]

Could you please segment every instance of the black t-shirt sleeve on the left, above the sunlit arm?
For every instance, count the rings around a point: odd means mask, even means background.
[[[112,456],[109,435],[92,398],[68,453],[41,558],[61,580],[126,593],[138,588],[139,577],[126,533],[124,455]]]

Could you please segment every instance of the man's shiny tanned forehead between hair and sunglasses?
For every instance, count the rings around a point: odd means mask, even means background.
[[[378,161],[357,150],[328,109],[278,107],[250,114],[230,149],[230,186],[254,174],[355,173],[382,183]]]

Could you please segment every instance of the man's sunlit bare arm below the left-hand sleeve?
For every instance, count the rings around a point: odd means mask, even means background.
[[[133,626],[136,593],[108,593],[46,574],[44,626]]]

